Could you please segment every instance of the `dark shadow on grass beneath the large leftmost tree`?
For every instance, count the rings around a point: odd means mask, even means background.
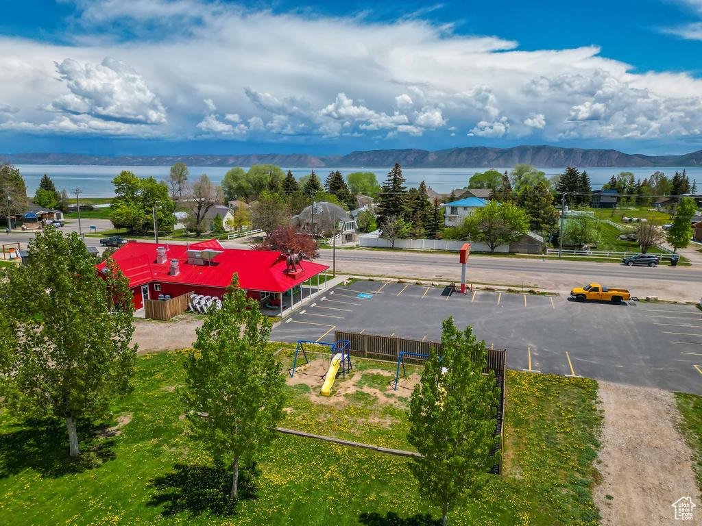
[[[0,478],[25,469],[44,477],[81,473],[101,466],[117,456],[114,440],[95,440],[96,428],[88,420],[77,422],[81,454],[68,454],[68,432],[59,419],[27,419],[0,434]]]

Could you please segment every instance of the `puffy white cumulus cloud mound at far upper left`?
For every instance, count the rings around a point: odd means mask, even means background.
[[[108,57],[98,65],[86,63],[83,67],[67,58],[55,66],[71,93],[48,104],[48,111],[90,115],[122,123],[166,122],[166,109],[159,97],[125,62]]]

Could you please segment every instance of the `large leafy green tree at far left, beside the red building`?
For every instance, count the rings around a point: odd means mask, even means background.
[[[75,457],[77,420],[105,419],[131,389],[128,280],[111,258],[100,276],[77,233],[44,229],[29,241],[29,265],[9,269],[2,288],[0,332],[12,352],[0,360],[0,396],[18,417],[63,419]]]

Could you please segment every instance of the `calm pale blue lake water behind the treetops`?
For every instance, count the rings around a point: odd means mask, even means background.
[[[156,177],[162,180],[170,171],[168,166],[53,166],[53,165],[30,165],[20,164],[16,166],[20,169],[22,177],[27,183],[27,194],[34,195],[39,186],[41,176],[46,173],[53,180],[56,189],[72,188],[83,189],[83,197],[113,197],[114,187],[110,182],[121,170],[130,170],[140,177]],[[501,172],[511,170],[508,168],[495,168]],[[206,173],[214,182],[220,182],[224,177],[228,167],[213,166],[190,166],[190,178]],[[284,168],[286,170],[286,168]],[[324,181],[329,172],[339,170],[343,175],[352,172],[373,172],[378,178],[378,182],[385,179],[390,168],[319,168],[314,170]],[[454,188],[468,186],[468,180],[476,172],[484,172],[487,168],[403,168],[402,174],[409,186],[417,186],[421,181],[425,181],[428,187],[435,191],[449,192]],[[246,170],[246,168],[244,168]],[[546,177],[563,173],[564,168],[542,168]],[[637,179],[649,177],[656,170],[661,170],[672,177],[675,171],[682,172],[682,168],[588,168],[588,174],[592,181],[592,188],[598,189],[605,182],[609,181],[612,175],[619,172],[633,172]],[[702,188],[702,167],[685,168],[687,175],[692,180],[696,180],[698,187]],[[291,168],[293,175],[302,177],[310,173],[310,168]]]

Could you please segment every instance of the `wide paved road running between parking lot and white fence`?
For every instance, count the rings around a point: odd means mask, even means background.
[[[77,225],[67,224],[65,231],[75,228]],[[13,233],[3,238],[8,241],[20,241],[25,245],[33,235]],[[99,246],[100,238],[86,237],[86,244]],[[225,241],[224,245],[232,248],[248,247],[234,241]],[[320,253],[322,257],[318,262],[331,267],[332,251],[322,249]],[[425,280],[461,279],[461,265],[458,263],[457,254],[338,249],[336,271],[340,274],[398,276]],[[585,283],[603,283],[609,287],[628,288],[637,297],[654,295],[672,301],[698,302],[702,295],[702,265],[670,267],[666,264],[650,269],[625,267],[615,261],[598,263],[558,261],[540,257],[472,255],[468,260],[468,282],[513,287],[523,285],[525,288],[541,288],[561,293],[567,293],[574,286]]]

